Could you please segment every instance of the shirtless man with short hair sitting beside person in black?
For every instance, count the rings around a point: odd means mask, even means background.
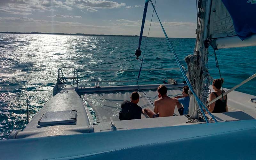
[[[154,112],[148,108],[144,109],[144,112],[150,117],[167,117],[173,116],[175,109],[175,101],[166,95],[167,88],[165,85],[159,85],[157,88],[158,99],[155,100]]]

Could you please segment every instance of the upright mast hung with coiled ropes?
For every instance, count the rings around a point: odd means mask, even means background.
[[[199,0],[198,1],[198,24],[197,24],[197,38],[193,55],[186,57],[188,63],[188,79],[193,85],[193,89],[200,98],[200,100],[206,104],[208,96],[209,83],[205,84],[205,81],[211,81],[212,77],[208,74],[208,43],[209,43],[209,17],[211,11],[212,0]],[[207,42],[208,41],[208,42]],[[206,45],[205,45],[206,44]],[[206,93],[207,92],[207,95]],[[205,96],[206,95],[206,96]],[[193,119],[199,119],[200,109],[198,109],[198,103],[195,96],[190,96],[189,102],[189,115]]]

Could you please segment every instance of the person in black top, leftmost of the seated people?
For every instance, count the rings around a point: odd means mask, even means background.
[[[130,120],[130,119],[140,119],[142,108],[138,106],[139,103],[139,93],[132,92],[131,101],[125,100],[121,104],[121,111],[119,112],[119,119],[122,120]]]

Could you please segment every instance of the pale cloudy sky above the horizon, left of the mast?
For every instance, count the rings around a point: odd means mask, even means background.
[[[0,0],[0,31],[140,35],[144,4],[145,0]],[[144,36],[152,12],[149,3]],[[196,37],[196,0],[156,0],[156,12],[169,37]],[[149,37],[164,37],[155,13]]]

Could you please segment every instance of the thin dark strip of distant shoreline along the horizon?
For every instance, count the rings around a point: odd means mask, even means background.
[[[139,37],[138,35],[96,35],[96,34],[84,34],[84,33],[42,33],[42,32],[0,32],[0,33],[7,33],[7,34],[40,34],[40,35],[72,35],[72,36],[115,36],[115,37]],[[147,36],[143,36],[147,37]]]

